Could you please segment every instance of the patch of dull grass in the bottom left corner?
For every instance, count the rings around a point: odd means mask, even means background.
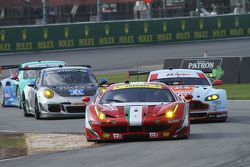
[[[21,133],[0,133],[0,159],[27,154],[25,136]]]

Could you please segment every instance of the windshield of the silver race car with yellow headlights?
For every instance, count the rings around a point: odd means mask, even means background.
[[[64,85],[64,84],[97,84],[94,75],[85,69],[60,69],[45,71],[43,84]]]

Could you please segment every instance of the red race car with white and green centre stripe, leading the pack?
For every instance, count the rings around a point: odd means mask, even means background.
[[[190,133],[189,102],[164,83],[113,84],[86,107],[88,141],[187,138]],[[83,102],[88,102],[83,97]]]

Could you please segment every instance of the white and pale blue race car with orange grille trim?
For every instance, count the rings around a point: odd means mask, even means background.
[[[227,93],[224,89],[215,89],[212,85],[221,85],[221,80],[210,80],[199,70],[165,69],[151,71],[149,82],[159,81],[169,85],[178,95],[191,94],[191,120],[226,121]]]

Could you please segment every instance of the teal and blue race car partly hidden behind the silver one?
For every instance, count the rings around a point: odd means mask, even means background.
[[[33,67],[64,66],[64,61],[35,61],[21,65],[4,65],[0,71],[11,69],[11,76],[0,81],[0,103],[3,107],[17,106],[22,108],[22,96],[24,87],[31,81],[35,81],[39,73],[32,70]],[[27,70],[31,68],[31,70]],[[24,70],[25,69],[25,70]],[[14,72],[13,72],[14,71]]]

